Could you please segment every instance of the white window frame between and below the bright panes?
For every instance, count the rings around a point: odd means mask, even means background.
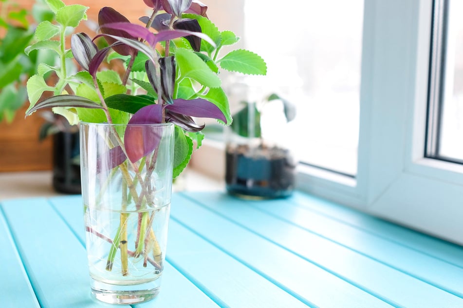
[[[297,182],[314,195],[463,244],[463,166],[424,156],[432,2],[365,1],[356,178],[301,165]],[[210,172],[217,157],[224,163],[223,145],[204,144],[193,166]],[[214,169],[223,179],[223,169]]]

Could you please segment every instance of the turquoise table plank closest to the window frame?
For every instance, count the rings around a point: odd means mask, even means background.
[[[296,192],[291,201],[293,205],[309,209],[312,212],[374,234],[379,238],[396,242],[463,268],[463,249],[460,245],[433,238],[303,192]]]

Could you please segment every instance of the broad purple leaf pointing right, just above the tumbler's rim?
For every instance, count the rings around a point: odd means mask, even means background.
[[[190,117],[212,118],[226,122],[225,115],[215,104],[204,99],[184,100],[176,99],[166,109]]]

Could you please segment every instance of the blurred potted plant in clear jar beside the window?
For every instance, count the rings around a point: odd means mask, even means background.
[[[295,116],[294,105],[277,94],[259,105],[243,102],[227,134],[225,182],[229,193],[258,199],[291,195],[296,160],[284,140],[290,134],[286,123]]]

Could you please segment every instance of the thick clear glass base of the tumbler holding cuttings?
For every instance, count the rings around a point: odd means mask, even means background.
[[[92,293],[99,301],[109,304],[139,304],[155,298],[160,289],[160,280],[132,285],[114,285],[91,279]]]

